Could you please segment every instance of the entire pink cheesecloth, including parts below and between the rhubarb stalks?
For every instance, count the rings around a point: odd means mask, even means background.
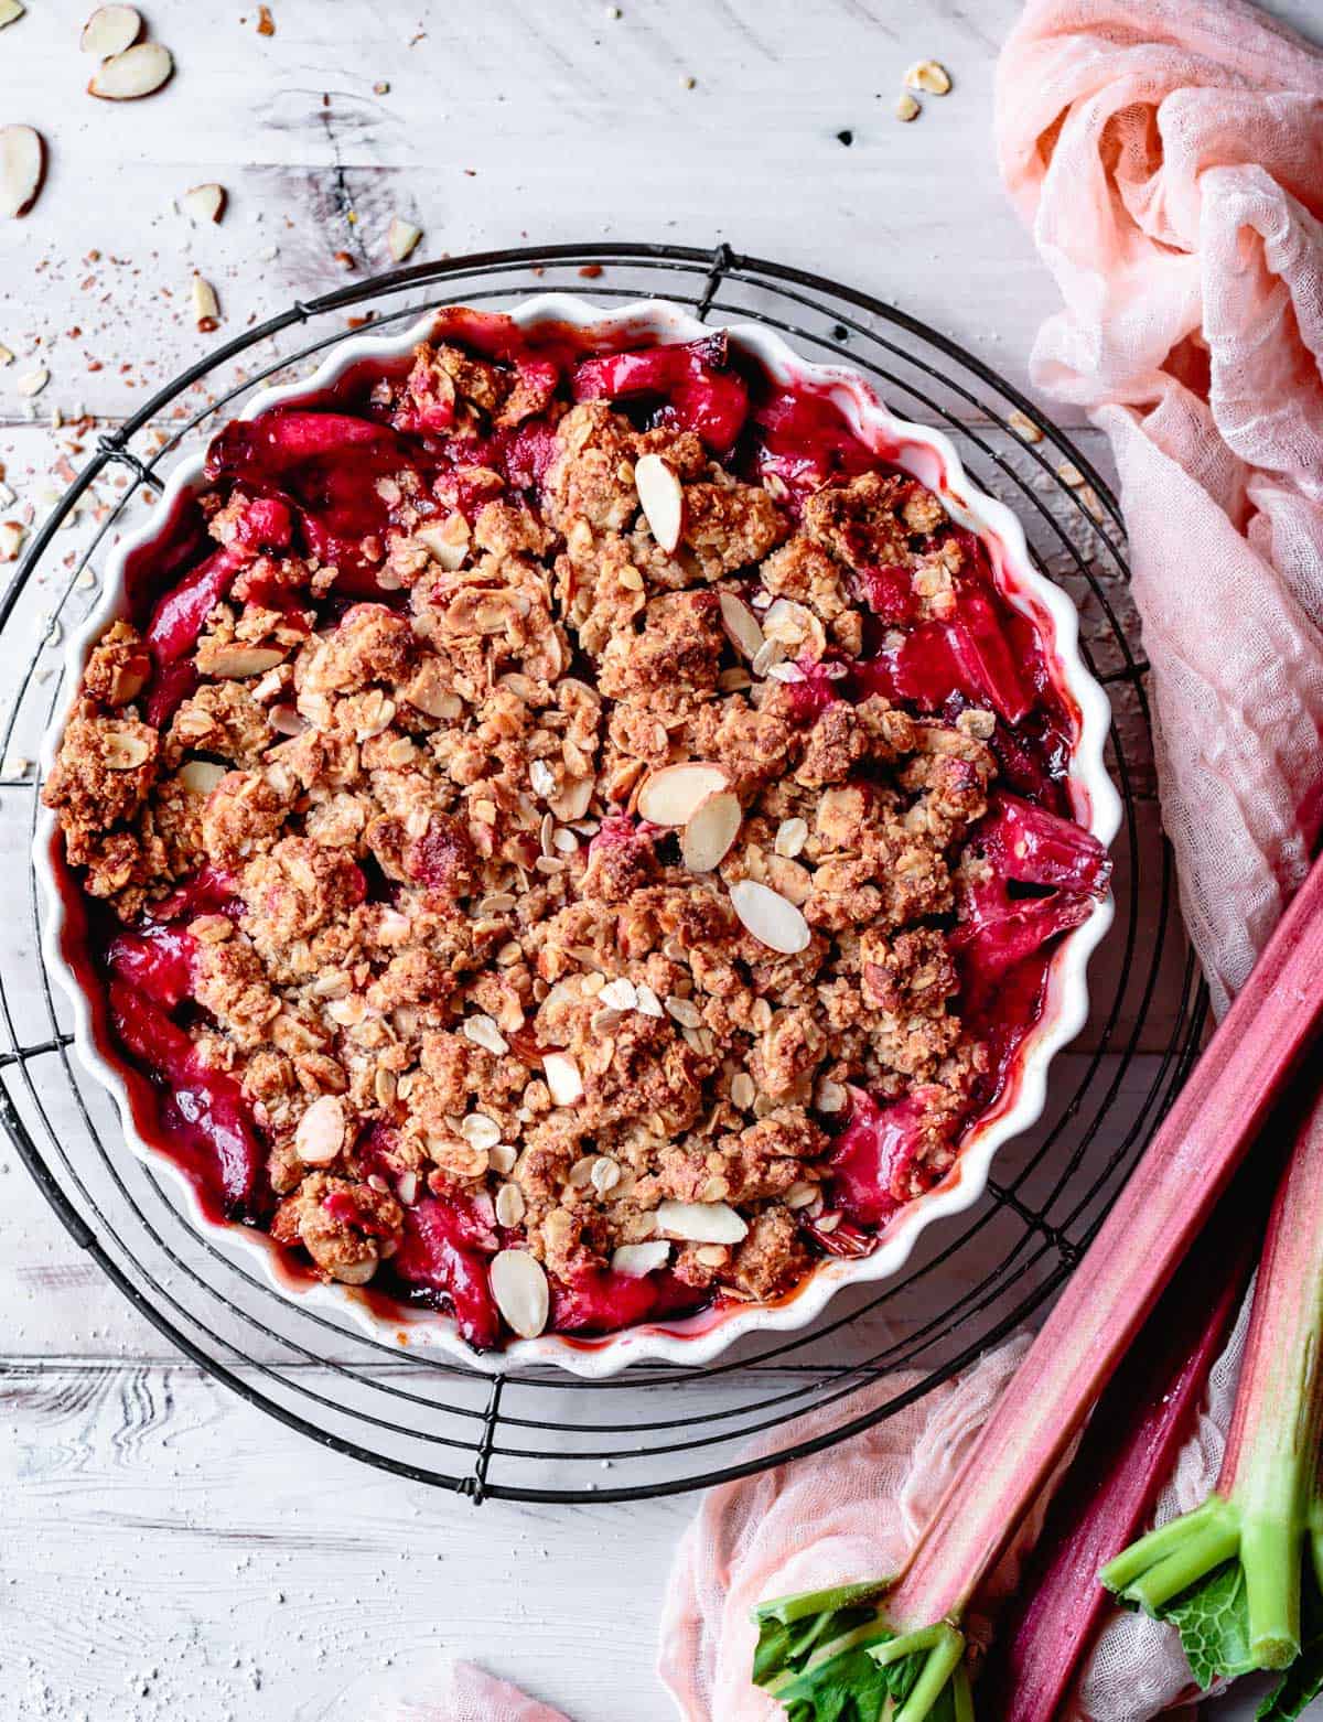
[[[1120,475],[1163,816],[1221,1011],[1323,811],[1323,57],[1245,0],[1028,0],[997,67],[996,131],[1063,298],[1034,384],[1089,413]],[[1216,1477],[1242,1328],[1159,1519]],[[782,1715],[749,1684],[749,1608],[896,1570],[1023,1345],[842,1446],[706,1496],[662,1620],[660,1674],[687,1722]],[[1013,1570],[1011,1557],[1003,1589]],[[455,1679],[431,1694],[443,1722],[563,1722],[475,1670]],[[1144,1722],[1182,1694],[1175,1634],[1118,1615],[1073,1715]]]

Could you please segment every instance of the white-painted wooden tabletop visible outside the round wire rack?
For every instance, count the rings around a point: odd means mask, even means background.
[[[83,93],[84,0],[29,0],[0,34],[0,124],[52,152],[33,215],[0,224],[19,508],[60,487],[52,413],[122,418],[205,350],[195,269],[238,332],[343,282],[345,253],[388,267],[396,212],[425,229],[419,258],[729,239],[915,308],[1023,377],[1054,289],[991,158],[1015,0],[613,10],[272,0],[264,36],[245,0],[155,0],[177,76],[115,107]],[[1306,26],[1313,0],[1275,10]],[[901,126],[901,72],[927,55],[956,88]],[[200,231],[172,200],[208,179],[231,207]],[[38,365],[52,381],[29,401],[17,381]],[[164,1355],[3,1147],[0,1402],[0,1722],[362,1715],[439,1650],[577,1722],[670,1713],[655,1620],[693,1502],[475,1512],[312,1448]]]

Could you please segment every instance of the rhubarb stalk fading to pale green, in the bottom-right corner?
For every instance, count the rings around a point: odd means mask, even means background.
[[[1218,1484],[1102,1569],[1116,1596],[1180,1629],[1199,1686],[1301,1651],[1323,1333],[1323,1100],[1273,1202]]]

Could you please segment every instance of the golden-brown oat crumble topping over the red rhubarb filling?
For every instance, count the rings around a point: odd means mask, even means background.
[[[949,616],[960,541],[879,472],[796,522],[775,479],[741,482],[693,432],[458,348],[379,396],[443,400],[467,436],[548,417],[539,505],[486,468],[455,474],[463,510],[412,470],[376,479],[393,525],[363,553],[389,601],[345,608],[334,567],[258,556],[169,727],[145,722],[152,660],[117,622],[47,787],[67,858],[131,926],[203,863],[233,878],[238,911],[189,923],[189,1033],[270,1145],[272,1235],[324,1276],[370,1279],[431,1190],[553,1279],[653,1243],[696,1290],[782,1293],[839,1223],[849,1087],[922,1095],[906,1200],[949,1166],[985,1068],[941,918],[992,715],[810,697],[860,651],[860,575],[908,570],[920,615]],[[682,487],[670,553],[643,455]],[[236,542],[245,489],[205,506]],[[710,771],[660,777],[677,763]]]

